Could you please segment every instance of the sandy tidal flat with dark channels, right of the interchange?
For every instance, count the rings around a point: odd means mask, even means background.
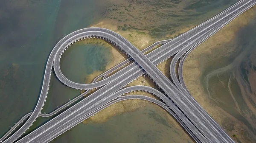
[[[256,7],[193,50],[183,79],[196,101],[239,143],[256,142]]]

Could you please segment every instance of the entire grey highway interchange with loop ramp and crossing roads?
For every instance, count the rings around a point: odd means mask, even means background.
[[[153,79],[153,81],[163,90],[160,94],[152,92],[148,87],[138,86],[132,87],[137,90],[143,90],[154,93],[160,97],[165,103],[164,109],[168,107],[170,114],[184,127],[184,129],[191,135],[192,138],[198,143],[234,143],[234,141],[221,129],[220,126],[204,111],[204,109],[192,98],[189,92],[186,90],[185,84],[182,79],[182,64],[186,55],[194,49],[197,45],[204,42],[207,38],[212,36],[219,29],[224,27],[231,20],[236,18],[239,14],[246,11],[248,8],[254,6],[256,0],[241,0],[234,4],[230,8],[220,14],[212,17],[210,20],[198,25],[195,28],[187,31],[186,33],[177,36],[175,39],[160,42],[164,44],[156,50],[144,55],[141,51],[137,50],[130,42],[124,39],[119,34],[104,28],[85,28],[79,31],[75,31],[63,39],[53,48],[45,70],[44,83],[41,90],[41,95],[38,103],[29,119],[21,126],[15,133],[3,141],[3,137],[0,141],[4,143],[12,143],[20,137],[29,126],[35,121],[38,115],[41,115],[41,109],[44,105],[45,98],[47,97],[47,91],[49,88],[49,79],[51,75],[52,66],[58,79],[65,85],[75,89],[93,89],[101,87],[95,93],[91,94],[87,98],[82,99],[77,104],[73,105],[69,109],[66,109],[61,114],[55,116],[51,121],[45,123],[35,131],[29,133],[25,137],[17,141],[17,143],[45,143],[52,140],[54,137],[61,135],[67,129],[72,128],[77,123],[80,123],[90,115],[95,114],[102,107],[107,107],[113,102],[125,99],[119,97],[122,95],[122,87],[129,84],[138,76],[146,73]],[[105,39],[117,45],[120,49],[124,50],[133,60],[129,59],[126,62],[118,64],[112,70],[102,74],[104,79],[101,81],[94,81],[92,84],[79,84],[68,80],[62,73],[59,65],[61,55],[72,43],[87,38],[100,38]],[[153,47],[153,46],[152,46]],[[152,48],[151,47],[151,48]],[[175,76],[175,64],[177,59],[183,56],[184,53],[189,51],[184,58],[181,58],[179,65],[179,79]],[[176,53],[172,63],[170,65],[170,75],[173,83],[157,69],[155,65],[163,62],[170,56]],[[122,67],[125,63],[132,62],[122,70],[108,76],[109,73]],[[108,76],[108,77],[107,77]],[[126,93],[126,89],[124,92]],[[131,89],[134,91],[134,89]],[[118,91],[119,90],[119,91]],[[88,92],[89,90],[87,90]],[[118,92],[116,92],[118,91]],[[121,94],[122,93],[122,94]],[[82,97],[82,96],[80,96]],[[128,98],[128,97],[127,97]],[[134,98],[134,97],[133,97]],[[137,98],[142,99],[142,96]],[[115,99],[113,101],[113,99]],[[145,100],[143,98],[143,100]],[[156,103],[153,100],[148,100]],[[156,103],[158,104],[158,103]],[[163,107],[161,104],[159,106]],[[167,109],[167,111],[168,111]],[[169,112],[169,111],[168,111]],[[53,114],[52,114],[53,115]],[[6,135],[7,136],[7,135]]]

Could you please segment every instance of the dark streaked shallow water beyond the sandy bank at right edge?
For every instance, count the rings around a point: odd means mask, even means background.
[[[241,28],[236,37],[229,43],[218,48],[238,49],[229,53],[221,60],[210,60],[201,76],[204,90],[215,102],[228,114],[244,124],[247,131],[244,137],[256,141],[256,100],[255,100],[255,70],[256,63],[256,17],[250,23]],[[219,51],[213,51],[213,55]],[[209,57],[209,59],[211,59]],[[224,121],[225,123],[225,121]],[[221,125],[228,130],[234,130],[232,123],[229,126]],[[235,134],[234,134],[235,135]]]

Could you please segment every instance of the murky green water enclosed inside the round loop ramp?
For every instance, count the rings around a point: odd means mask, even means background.
[[[104,42],[102,40],[97,40]],[[104,71],[111,60],[111,51],[99,44],[72,45],[61,56],[61,70],[71,81],[84,83],[95,70]]]

